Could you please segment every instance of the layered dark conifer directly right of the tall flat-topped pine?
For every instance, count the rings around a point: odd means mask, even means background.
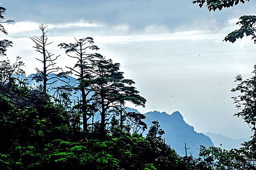
[[[97,111],[100,113],[100,129],[101,137],[106,134],[106,124],[110,119],[111,104],[117,100],[114,88],[115,83],[122,77],[122,73],[118,72],[119,64],[113,64],[112,60],[106,60],[105,57],[98,54],[98,59],[92,60],[91,72],[94,74],[94,79],[90,82],[92,95],[96,103]]]

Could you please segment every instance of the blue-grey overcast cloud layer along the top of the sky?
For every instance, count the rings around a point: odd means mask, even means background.
[[[133,30],[154,24],[175,29],[194,22],[198,23],[195,27],[204,28],[209,20],[216,21],[210,27],[218,29],[231,18],[255,14],[256,5],[250,1],[232,10],[209,13],[190,0],[1,0],[1,3],[8,9],[8,17],[17,22],[128,24]]]

